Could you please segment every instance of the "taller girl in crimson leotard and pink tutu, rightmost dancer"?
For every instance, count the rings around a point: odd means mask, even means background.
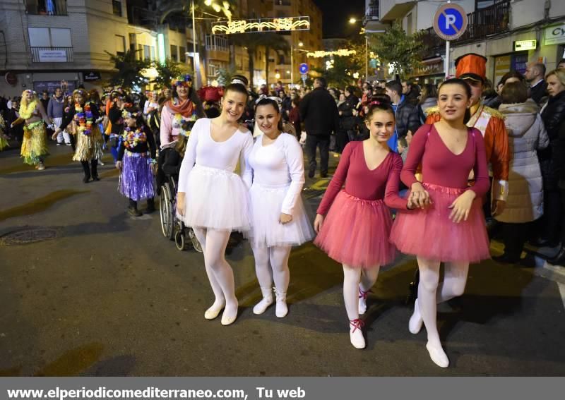
[[[432,361],[449,365],[436,324],[436,303],[460,296],[465,290],[470,262],[490,257],[482,198],[489,190],[489,171],[482,134],[465,126],[472,96],[465,80],[451,79],[439,88],[441,120],[415,133],[400,178],[410,201],[424,210],[398,213],[391,243],[415,255],[420,270],[418,298],[408,329],[417,334],[426,326],[426,348]],[[415,173],[422,165],[422,183]],[[468,186],[470,171],[475,184]],[[445,262],[439,284],[439,265]]]

